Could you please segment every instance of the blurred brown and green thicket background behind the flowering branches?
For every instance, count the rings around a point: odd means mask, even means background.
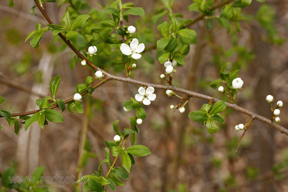
[[[87,6],[101,10],[102,6],[112,2],[88,0]],[[47,22],[37,7],[37,16],[29,12],[34,1],[14,0],[14,3],[15,7],[8,7],[7,1],[0,1],[0,95],[5,98],[1,109],[8,111],[13,107],[11,113],[36,110],[35,99],[50,96],[49,82],[56,75],[62,77],[56,98],[73,97],[76,85],[84,83],[87,76],[93,77],[94,71],[80,65],[80,60],[76,60],[75,68],[71,70],[69,64],[75,54],[49,31],[42,37],[38,49],[31,47],[29,41],[24,43],[37,22],[43,27]],[[153,19],[163,9],[163,3],[160,0],[136,0],[133,3],[143,7],[145,16],[129,16],[129,23],[124,22],[124,25],[134,25],[139,42],[149,47],[160,38],[157,25],[168,20],[167,16]],[[191,3],[190,0],[176,0],[173,12],[183,14],[185,19],[194,19],[199,13],[188,11]],[[221,1],[215,1],[218,3]],[[62,20],[66,6],[67,3],[61,7],[57,2],[44,3],[55,24]],[[279,115],[280,124],[288,128],[287,8],[287,1],[266,0],[265,4],[253,1],[251,6],[242,9],[244,20],[240,22],[240,32],[232,24],[228,34],[227,29],[216,22],[211,30],[207,30],[205,20],[190,26],[196,31],[197,43],[190,46],[185,65],[177,66],[173,84],[229,101],[209,87],[219,78],[221,66],[229,62],[228,71],[241,68],[239,77],[244,81],[236,104],[270,118],[270,104],[265,98],[274,95],[274,107],[278,100],[284,103]],[[220,9],[215,10],[216,15],[219,12]],[[81,13],[88,14],[88,11]],[[88,44],[87,47],[98,47],[91,41]],[[146,51],[132,72],[132,78],[165,84],[160,79],[165,69],[156,55],[155,49]],[[124,77],[123,66],[114,66],[99,58],[94,64]],[[97,82],[94,79],[93,84]],[[1,119],[4,128],[0,131],[0,172],[14,167],[17,176],[30,176],[38,166],[45,166],[44,176],[76,176],[79,173],[80,136],[88,119],[85,166],[81,173],[92,174],[105,158],[104,139],[113,140],[115,135],[113,121],[120,121],[120,131],[129,127],[129,117],[134,117],[134,112],[125,112],[122,103],[134,97],[138,88],[137,85],[109,81],[92,95],[83,97],[83,114],[70,114],[65,110],[62,113],[64,123],[49,123],[45,130],[34,123],[25,132],[21,124],[18,136],[15,136],[14,128]],[[181,99],[166,96],[165,90],[155,90],[155,93],[156,100],[144,108],[147,118],[138,126],[141,132],[136,135],[135,142],[149,147],[151,155],[135,157],[136,164],[131,167],[129,180],[123,181],[125,185],[117,187],[117,191],[288,191],[288,136],[255,120],[235,153],[242,131],[236,132],[234,127],[247,123],[249,116],[226,109],[222,113],[225,123],[218,123],[219,132],[209,135],[201,123],[188,117],[189,112],[199,110],[206,101],[190,98],[185,113],[179,113],[169,107],[177,105]],[[116,165],[120,166],[121,162]],[[107,173],[107,165],[102,167]],[[42,186],[47,186],[50,191],[75,191],[73,184]]]

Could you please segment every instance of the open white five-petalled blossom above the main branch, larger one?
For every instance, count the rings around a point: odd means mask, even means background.
[[[132,54],[133,59],[140,59],[141,55],[139,53],[141,53],[144,49],[145,49],[144,43],[139,44],[139,41],[136,38],[132,39],[130,47],[125,43],[122,43],[120,46],[120,50],[122,51],[122,53],[124,55]]]

